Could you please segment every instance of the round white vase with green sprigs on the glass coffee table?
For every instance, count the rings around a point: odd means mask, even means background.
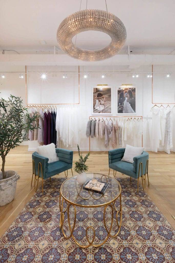
[[[85,163],[86,163],[90,153],[86,154],[86,156],[83,158],[82,153],[80,153],[78,144],[77,144],[77,148],[78,148],[79,160],[77,162],[75,162],[75,171],[76,171],[76,173],[78,173],[78,175],[77,175],[78,183],[84,184],[87,181],[86,172],[88,171],[88,166]]]

